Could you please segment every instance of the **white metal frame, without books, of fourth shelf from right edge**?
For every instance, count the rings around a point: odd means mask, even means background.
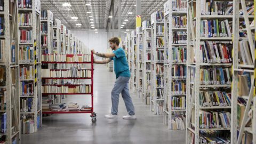
[[[164,61],[160,60],[158,61],[156,59],[157,52],[164,51],[164,47],[158,46],[159,38],[162,39],[162,44],[164,44],[164,31],[159,31],[158,26],[164,27],[164,15],[162,15],[161,18],[157,18],[157,13],[163,13],[163,12],[154,12],[151,14],[151,97],[150,97],[150,110],[153,111],[154,114],[163,114],[164,111],[161,110],[161,107],[163,107],[163,101],[164,99],[161,98],[164,96],[164,84],[156,85],[157,78],[162,78],[163,71],[161,70],[161,67],[164,66]],[[162,29],[160,28],[160,29]],[[163,30],[163,29],[162,29]],[[157,73],[156,66],[159,66],[159,71],[162,71],[161,74]],[[159,98],[157,98],[159,97]],[[158,113],[159,112],[159,113]]]

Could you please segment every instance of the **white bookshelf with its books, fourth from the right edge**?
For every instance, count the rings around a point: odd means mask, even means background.
[[[164,13],[151,14],[151,98],[150,109],[154,114],[163,114],[164,102]]]

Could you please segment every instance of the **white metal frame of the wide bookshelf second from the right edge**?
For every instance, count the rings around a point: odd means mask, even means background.
[[[214,2],[214,1],[213,1]],[[218,1],[217,1],[218,2]],[[233,2],[233,1],[225,1],[226,2]],[[186,92],[186,101],[187,101],[187,111],[186,111],[186,143],[199,143],[202,138],[201,132],[212,132],[217,134],[218,132],[227,132],[230,133],[230,130],[233,129],[233,125],[236,125],[235,119],[237,118],[233,111],[234,103],[231,104],[231,107],[215,107],[215,106],[208,106],[202,107],[200,105],[200,101],[202,100],[199,95],[202,91],[225,91],[229,93],[231,91],[230,84],[214,84],[214,85],[205,85],[201,84],[201,76],[200,76],[200,69],[201,68],[229,68],[231,69],[231,62],[228,63],[212,63],[206,62],[202,63],[202,51],[200,49],[202,43],[204,42],[216,42],[216,43],[231,43],[232,37],[201,37],[201,20],[225,20],[228,19],[229,22],[232,21],[232,15],[203,15],[203,7],[204,4],[201,3],[201,0],[192,0],[187,1],[188,3],[188,30],[187,30],[187,92]],[[233,14],[234,14],[234,7],[235,2],[233,2]],[[239,5],[239,4],[238,4]],[[234,20],[233,20],[234,21]],[[238,28],[238,27],[237,27]],[[238,33],[238,29],[234,28],[233,23],[233,31],[234,33]],[[231,31],[232,33],[232,31]],[[235,39],[233,39],[235,42]],[[234,50],[233,50],[234,51]],[[233,60],[234,63],[234,60]],[[230,76],[231,77],[231,76]],[[234,78],[234,76],[233,76]],[[232,80],[231,80],[232,81]],[[226,83],[226,82],[225,82]],[[234,79],[233,79],[234,83]],[[233,86],[234,87],[234,86]],[[232,94],[231,101],[234,101],[234,97]],[[231,110],[232,109],[232,110]],[[203,111],[228,111],[231,113],[231,126],[227,128],[209,128],[209,129],[202,129],[199,126],[199,117],[202,116],[201,113]],[[233,117],[235,116],[235,118]],[[231,130],[232,131],[232,130]],[[234,143],[232,137],[236,137],[236,132],[231,133],[231,143]]]

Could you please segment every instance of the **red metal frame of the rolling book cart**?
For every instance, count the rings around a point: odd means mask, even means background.
[[[47,55],[47,54],[44,54]],[[71,57],[74,54],[66,54],[67,57]],[[82,54],[77,54],[77,55],[82,55]],[[96,113],[94,112],[93,109],[93,53],[91,52],[91,62],[48,62],[48,61],[42,61],[42,63],[62,63],[62,64],[67,64],[67,63],[87,63],[91,64],[91,77],[84,77],[84,78],[77,78],[77,77],[42,77],[42,79],[91,79],[91,93],[42,93],[42,95],[73,95],[73,94],[79,94],[79,95],[91,95],[91,110],[86,110],[86,111],[43,111],[43,114],[91,114],[92,122],[96,122]],[[44,84],[43,84],[44,85]],[[48,85],[48,84],[47,84]],[[52,85],[52,84],[49,84]],[[65,86],[76,86],[77,84],[74,85],[67,85]],[[57,86],[62,86],[62,85],[57,85]]]

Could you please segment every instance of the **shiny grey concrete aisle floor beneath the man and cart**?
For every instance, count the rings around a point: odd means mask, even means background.
[[[150,113],[149,106],[132,94],[136,120],[124,120],[126,108],[121,97],[118,120],[105,119],[110,113],[110,93],[115,82],[115,75],[107,72],[106,66],[95,66],[94,107],[97,123],[92,123],[89,114],[55,114],[43,117],[43,126],[34,134],[21,136],[25,144],[76,144],[76,143],[185,143],[185,131],[171,131],[163,125],[162,115]],[[82,95],[70,95],[69,102],[87,105],[89,99]]]

